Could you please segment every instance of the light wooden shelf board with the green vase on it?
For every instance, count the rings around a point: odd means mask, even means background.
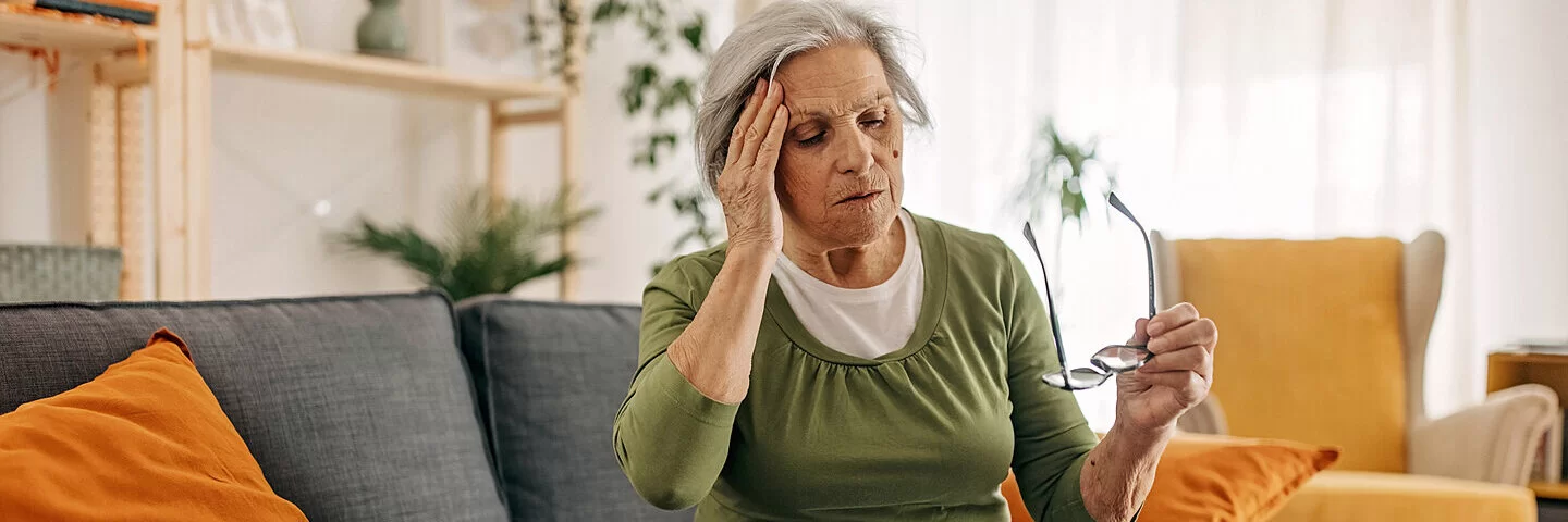
[[[213,42],[213,69],[245,71],[442,97],[513,100],[558,97],[558,85],[464,75],[414,61],[318,50],[276,50]]]

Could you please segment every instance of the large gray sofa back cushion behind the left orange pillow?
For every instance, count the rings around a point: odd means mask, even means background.
[[[312,520],[505,519],[439,293],[0,306],[0,412],[91,381],[160,328]]]

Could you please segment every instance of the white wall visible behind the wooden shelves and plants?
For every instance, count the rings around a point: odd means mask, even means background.
[[[713,34],[728,33],[731,2],[696,5],[709,8]],[[293,2],[293,8],[304,45],[351,52],[367,3]],[[405,3],[411,25],[423,8],[428,5]],[[619,34],[601,38],[585,69],[580,194],[602,215],[580,232],[582,301],[640,299],[649,266],[670,256],[676,235],[673,212],[649,205],[644,196],[668,176],[695,176],[681,168],[690,165],[685,150],[685,163],[671,161],[659,176],[630,168],[630,138],[641,124],[626,121],[618,91],[627,63],[646,50]],[[55,96],[28,91],[27,71],[31,66],[24,58],[0,58],[0,97],[25,92],[0,107],[0,241],[80,243],[86,227],[80,190],[85,129],[71,111],[80,108],[85,71]],[[50,113],[55,118],[47,118]],[[483,179],[483,157],[475,154],[486,147],[481,114],[470,103],[216,72],[213,296],[417,287],[390,262],[336,251],[326,235],[356,213],[441,230],[458,180]],[[508,141],[516,191],[530,198],[552,193],[560,165],[554,127],[519,129]],[[331,204],[328,215],[312,212],[318,201]],[[550,298],[555,281],[528,284],[519,295]]]

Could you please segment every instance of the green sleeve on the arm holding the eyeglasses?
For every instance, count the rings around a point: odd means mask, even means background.
[[[1098,437],[1088,428],[1071,392],[1041,381],[1058,372],[1051,320],[1029,271],[1010,249],[1011,287],[1004,287],[1008,310],[1008,400],[1013,403],[1013,473],[1024,505],[1035,520],[1090,520],[1080,473]]]

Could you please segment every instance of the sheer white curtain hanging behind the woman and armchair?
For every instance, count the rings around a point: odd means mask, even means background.
[[[1173,237],[1436,229],[1449,270],[1427,408],[1441,415],[1480,398],[1483,367],[1471,343],[1452,2],[883,2],[919,39],[914,69],[936,122],[911,136],[905,204],[994,232],[1036,266],[1010,202],[1049,116],[1068,138],[1098,138],[1118,194]],[[1041,245],[1069,364],[1126,340],[1146,307],[1142,241],[1090,202],[1088,226],[1062,234],[1060,262],[1052,232]],[[1113,398],[1080,393],[1096,430]]]

